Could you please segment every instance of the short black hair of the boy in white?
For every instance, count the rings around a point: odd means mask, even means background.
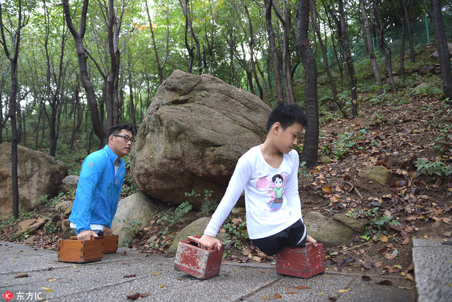
[[[267,133],[270,132],[271,127],[276,122],[281,124],[283,131],[294,123],[300,123],[304,128],[308,125],[306,113],[298,103],[289,103],[273,108],[267,120]]]

